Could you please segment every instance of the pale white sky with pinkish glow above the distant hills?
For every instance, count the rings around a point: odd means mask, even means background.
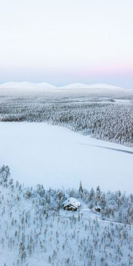
[[[133,0],[0,0],[0,83],[133,88]]]

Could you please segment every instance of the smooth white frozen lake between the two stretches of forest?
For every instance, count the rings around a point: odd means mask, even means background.
[[[0,122],[0,136],[0,165],[20,183],[133,192],[132,148],[46,123]]]

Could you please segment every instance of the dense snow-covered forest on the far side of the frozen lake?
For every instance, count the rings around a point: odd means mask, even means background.
[[[2,91],[0,101],[0,121],[45,121],[132,147],[132,93],[46,90],[5,95]]]

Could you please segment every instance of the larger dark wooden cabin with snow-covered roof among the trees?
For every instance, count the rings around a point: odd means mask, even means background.
[[[80,202],[75,197],[70,197],[63,202],[63,209],[68,211],[77,211],[80,207]]]

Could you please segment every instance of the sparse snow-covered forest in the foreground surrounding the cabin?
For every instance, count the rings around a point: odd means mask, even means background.
[[[68,197],[81,202],[64,211]],[[133,195],[97,189],[35,189],[0,169],[1,266],[128,266],[133,264]],[[92,207],[100,205],[95,213]]]

